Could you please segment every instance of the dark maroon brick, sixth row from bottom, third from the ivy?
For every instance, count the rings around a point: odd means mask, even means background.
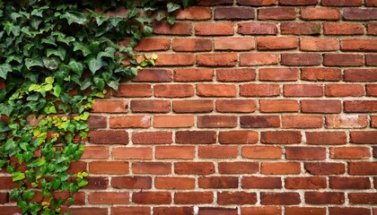
[[[216,142],[215,131],[178,131],[175,142],[189,144],[210,144]]]

